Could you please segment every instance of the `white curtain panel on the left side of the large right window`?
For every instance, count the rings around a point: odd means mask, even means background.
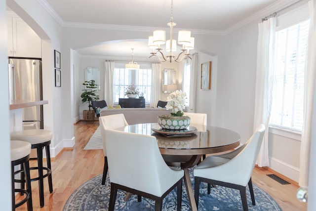
[[[257,74],[255,92],[254,130],[259,124],[266,127],[264,139],[259,151],[257,164],[259,167],[269,166],[268,134],[269,119],[272,106],[272,90],[274,81],[274,47],[276,18],[259,23],[257,45]]]

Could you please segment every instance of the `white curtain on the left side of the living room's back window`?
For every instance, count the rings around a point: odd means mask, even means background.
[[[113,77],[114,77],[114,62],[104,62],[104,99],[108,106],[113,106]]]

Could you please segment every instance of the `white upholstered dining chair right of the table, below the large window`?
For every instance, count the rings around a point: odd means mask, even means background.
[[[195,199],[198,205],[200,182],[221,185],[239,190],[242,207],[248,211],[246,186],[248,184],[252,204],[255,205],[251,173],[258,157],[265,126],[260,125],[249,140],[237,152],[223,156],[208,156],[195,169]]]

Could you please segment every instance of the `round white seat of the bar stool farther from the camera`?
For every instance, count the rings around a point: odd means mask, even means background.
[[[49,141],[52,137],[52,132],[46,129],[27,129],[11,133],[11,140],[23,140],[32,145]]]

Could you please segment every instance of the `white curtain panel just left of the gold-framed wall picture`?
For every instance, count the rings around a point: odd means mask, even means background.
[[[186,59],[190,62],[190,98],[189,98],[189,111],[196,111],[196,101],[197,101],[197,73],[199,71],[197,65],[197,53],[192,54],[192,59]]]

